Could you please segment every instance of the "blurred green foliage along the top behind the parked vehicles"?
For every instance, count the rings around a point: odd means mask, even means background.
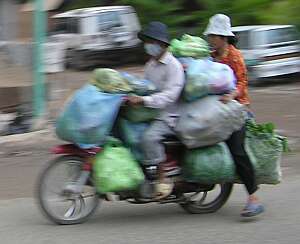
[[[229,15],[233,26],[294,24],[300,29],[299,0],[74,0],[68,8],[101,5],[131,5],[142,25],[162,21],[169,26],[172,37],[201,35],[216,13]]]

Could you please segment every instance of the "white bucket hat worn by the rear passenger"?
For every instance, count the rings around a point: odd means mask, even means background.
[[[204,35],[234,36],[231,31],[230,18],[225,14],[216,14],[209,19]]]

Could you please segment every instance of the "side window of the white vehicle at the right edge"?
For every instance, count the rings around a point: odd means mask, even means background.
[[[292,27],[267,30],[265,31],[264,35],[266,36],[264,44],[298,40],[297,31]]]

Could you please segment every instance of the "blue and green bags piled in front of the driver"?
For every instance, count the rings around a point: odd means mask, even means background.
[[[136,158],[123,143],[111,139],[110,135],[124,98],[129,94],[151,94],[155,90],[155,86],[147,80],[112,69],[96,69],[89,84],[75,92],[59,115],[56,134],[60,139],[81,148],[103,146],[103,151],[95,157],[93,164],[98,192],[132,190],[142,183],[144,175]],[[153,119],[157,111],[141,107],[125,109],[121,114],[129,120],[140,122]],[[120,119],[118,124],[121,125],[120,134],[125,144],[134,149],[138,143],[136,128],[126,119]]]

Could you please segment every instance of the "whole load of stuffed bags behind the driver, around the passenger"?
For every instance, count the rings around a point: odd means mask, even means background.
[[[181,116],[175,128],[187,147],[183,164],[185,179],[205,184],[239,182],[224,141],[245,124],[245,111],[237,101],[224,104],[218,97],[235,89],[233,71],[208,58],[208,45],[199,37],[184,35],[181,41],[171,42],[170,50],[186,73]],[[262,128],[265,126],[247,122],[245,148],[258,183],[277,184],[281,179],[284,143],[273,130]]]

